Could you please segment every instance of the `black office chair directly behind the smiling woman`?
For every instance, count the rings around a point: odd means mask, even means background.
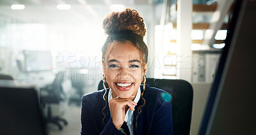
[[[172,95],[173,134],[190,133],[191,113],[193,103],[193,88],[190,83],[180,79],[147,78],[146,84],[160,88]],[[108,86],[106,85],[108,88]],[[100,81],[98,90],[103,89]]]

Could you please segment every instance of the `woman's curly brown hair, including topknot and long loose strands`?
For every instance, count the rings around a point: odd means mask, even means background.
[[[132,42],[132,45],[134,45],[134,47],[136,47],[136,49],[138,49],[141,52],[141,60],[143,60],[143,62],[145,63],[143,66],[147,64],[148,47],[145,44],[145,42],[143,42],[143,37],[145,36],[146,33],[145,24],[143,18],[140,17],[139,13],[136,10],[126,8],[122,12],[112,12],[103,20],[102,27],[104,28],[106,35],[108,35],[106,42],[102,47],[102,63],[104,63],[104,65],[106,58],[108,58],[108,56],[106,56],[106,51],[109,49],[109,46],[115,44],[115,42],[125,41]],[[141,99],[143,100],[143,104],[141,106],[138,106],[138,115],[136,116],[136,127],[138,116],[140,116],[141,113],[141,107],[145,106],[145,99],[143,98],[143,93],[145,91],[145,78],[143,78],[143,80],[144,86],[143,91],[141,92]],[[103,95],[103,99],[106,102],[106,87],[104,87],[104,89],[105,93]],[[103,110],[106,108],[106,106],[107,104],[102,109],[103,115]],[[104,118],[102,120],[103,123]]]

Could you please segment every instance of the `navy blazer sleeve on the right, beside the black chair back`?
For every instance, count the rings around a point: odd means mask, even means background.
[[[173,134],[172,103],[170,100],[166,101],[160,97],[150,134]]]

